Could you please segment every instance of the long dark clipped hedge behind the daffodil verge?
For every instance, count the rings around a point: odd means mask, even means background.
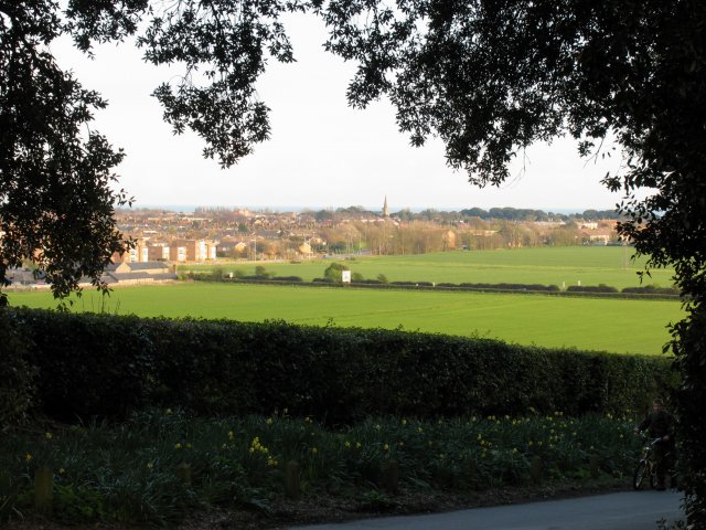
[[[7,358],[36,370],[34,410],[58,420],[122,416],[147,406],[206,414],[288,409],[336,424],[367,415],[429,418],[530,407],[580,415],[642,407],[672,378],[665,358],[490,339],[4,311],[7,328],[21,330],[29,344]]]

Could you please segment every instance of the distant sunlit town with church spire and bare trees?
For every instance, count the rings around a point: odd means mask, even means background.
[[[361,206],[272,212],[196,208],[118,210],[119,230],[135,240],[130,263],[228,259],[310,259],[334,254],[421,254],[545,245],[620,244],[613,211],[558,214],[541,210],[471,208],[391,212]]]

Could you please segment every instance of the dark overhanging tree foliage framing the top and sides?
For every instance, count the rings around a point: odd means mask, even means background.
[[[147,62],[181,64],[154,91],[164,119],[227,167],[269,136],[254,83],[268,60],[293,61],[286,12],[320,17],[325,49],[356,62],[352,106],[388,97],[411,144],[440,137],[471,183],[500,184],[537,140],[570,135],[586,156],[611,155],[602,142],[617,140],[623,169],[603,182],[624,192],[619,230],[650,266],[673,265],[691,300],[674,327],[677,413],[699,425],[684,433],[683,455],[689,518],[704,523],[706,413],[686,405],[706,402],[700,0],[0,0],[0,282],[29,258],[65,295],[124,245],[111,208],[128,198],[110,188],[122,153],[90,129],[105,103],[58,68],[54,39],[90,53],[130,38]]]

